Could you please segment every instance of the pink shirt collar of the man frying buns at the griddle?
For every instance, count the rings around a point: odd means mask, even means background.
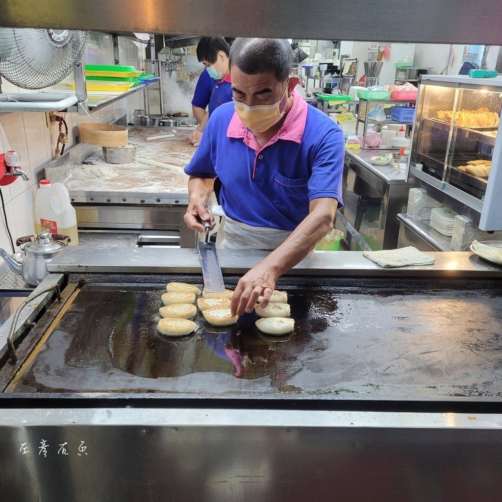
[[[294,90],[293,106],[286,115],[278,134],[273,139],[301,143],[305,131],[305,122],[307,121],[307,107],[308,104]],[[253,133],[244,126],[237,113],[234,112],[226,130],[227,138],[247,138],[248,135],[253,136]]]

